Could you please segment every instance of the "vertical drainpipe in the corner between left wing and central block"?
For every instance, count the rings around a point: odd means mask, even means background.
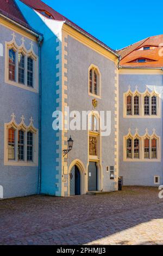
[[[38,194],[41,194],[41,46],[43,37],[37,39],[39,43],[39,180]]]

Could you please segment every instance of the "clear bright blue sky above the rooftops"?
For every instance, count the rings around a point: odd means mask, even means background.
[[[161,1],[42,1],[115,50],[163,34]]]

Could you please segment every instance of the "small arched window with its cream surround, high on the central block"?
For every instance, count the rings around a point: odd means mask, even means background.
[[[89,67],[88,78],[89,95],[101,99],[101,72],[94,64]]]

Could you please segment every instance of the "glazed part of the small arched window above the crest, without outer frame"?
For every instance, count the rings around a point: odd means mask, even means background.
[[[89,92],[99,96],[99,73],[96,68],[89,71]]]

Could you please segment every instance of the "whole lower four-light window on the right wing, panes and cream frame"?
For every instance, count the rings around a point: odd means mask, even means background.
[[[135,140],[139,140],[139,144]],[[123,137],[123,160],[124,162],[160,162],[160,136],[156,135],[155,129],[152,135],[149,135],[146,129],[145,134],[140,136],[137,128],[134,135],[129,128],[128,134]]]

